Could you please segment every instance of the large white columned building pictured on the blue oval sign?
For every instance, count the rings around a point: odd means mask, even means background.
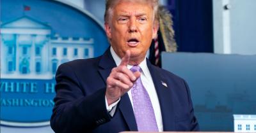
[[[93,38],[52,36],[49,25],[21,17],[1,25],[1,78],[52,79],[60,64],[93,57]]]

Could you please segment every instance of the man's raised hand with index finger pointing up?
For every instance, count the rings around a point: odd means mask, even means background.
[[[106,98],[108,105],[113,104],[122,95],[128,92],[133,82],[140,77],[140,72],[132,73],[132,71],[127,68],[130,56],[131,52],[127,50],[120,66],[113,68],[107,78]]]

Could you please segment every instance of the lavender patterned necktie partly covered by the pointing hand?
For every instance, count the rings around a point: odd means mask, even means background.
[[[132,72],[140,71],[140,66],[133,66]],[[132,102],[138,131],[158,132],[156,116],[147,90],[143,87],[141,78],[132,86]]]

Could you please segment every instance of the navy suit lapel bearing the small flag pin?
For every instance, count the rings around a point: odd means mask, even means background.
[[[157,97],[161,107],[161,114],[163,119],[163,130],[174,130],[174,112],[173,112],[173,101],[172,101],[172,88],[167,80],[161,76],[161,71],[157,71],[155,66],[147,60],[147,66],[154,82]],[[167,86],[167,87],[166,87]]]

